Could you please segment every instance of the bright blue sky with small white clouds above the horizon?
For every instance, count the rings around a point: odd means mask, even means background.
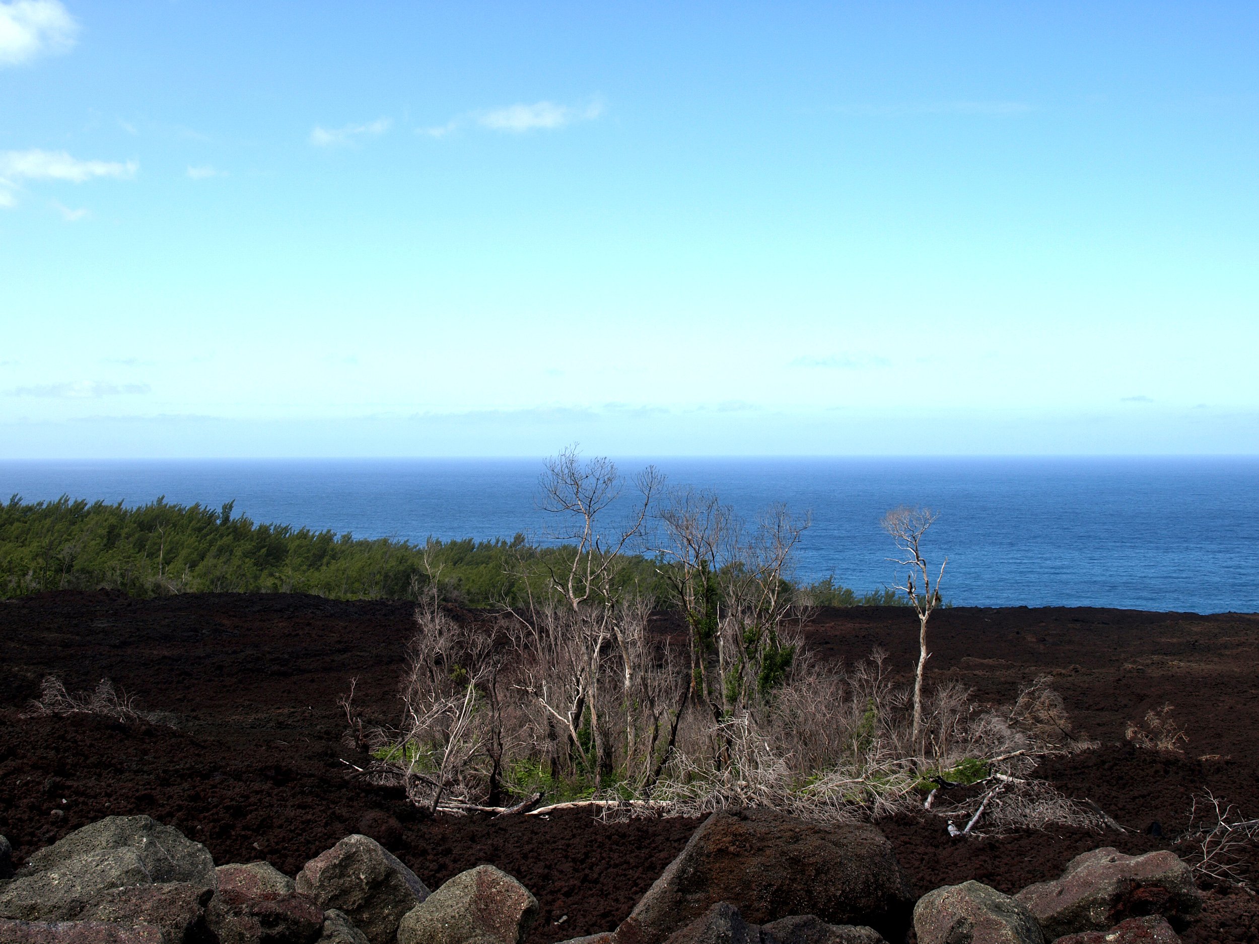
[[[0,1],[0,458],[1256,453],[1256,48],[1243,3]]]

